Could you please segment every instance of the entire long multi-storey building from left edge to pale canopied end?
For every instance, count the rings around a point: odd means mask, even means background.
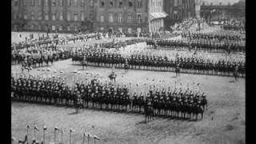
[[[12,0],[12,30],[158,32],[163,0]]]

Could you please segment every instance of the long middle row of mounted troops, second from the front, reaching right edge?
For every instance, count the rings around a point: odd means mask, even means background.
[[[80,62],[82,65],[107,66],[138,70],[170,70],[182,69],[184,73],[192,74],[216,74],[233,76],[234,71],[245,76],[246,65],[241,61],[220,60],[209,61],[204,58],[177,55],[175,59],[166,56],[131,54],[123,57],[118,53],[110,53],[106,50],[76,50],[71,54],[72,61]]]

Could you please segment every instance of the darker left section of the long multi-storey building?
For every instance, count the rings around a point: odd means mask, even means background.
[[[93,0],[12,0],[12,30],[90,30]]]

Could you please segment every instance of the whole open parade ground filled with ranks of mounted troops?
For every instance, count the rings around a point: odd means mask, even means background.
[[[245,143],[245,39],[219,33],[12,33],[13,143]]]

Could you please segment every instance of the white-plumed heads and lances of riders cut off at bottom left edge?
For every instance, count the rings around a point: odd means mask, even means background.
[[[34,123],[34,138],[32,138],[32,144],[37,144],[37,143],[46,143],[46,131],[49,131],[50,129],[46,126],[46,125],[43,125],[42,126],[42,142],[39,142],[38,141],[38,133],[40,132],[40,129],[38,128],[38,126],[36,126],[36,124]],[[32,130],[33,130],[32,129]],[[29,137],[29,130],[30,130],[30,125],[27,125],[26,126],[26,134],[25,134],[25,138],[24,140],[21,140],[21,139],[16,139],[14,136],[11,137],[11,142],[14,143],[14,142],[18,142],[18,143],[23,143],[23,144],[28,144],[30,142],[30,137]],[[73,136],[74,136],[74,132],[75,130],[73,128],[70,128],[70,134],[69,134],[69,138],[65,138],[65,129],[64,128],[58,128],[58,126],[54,126],[54,140],[49,140],[50,143],[60,143],[60,144],[63,144],[64,143],[64,140],[66,139],[69,139],[70,141],[70,144],[71,143],[74,143],[74,141],[76,141],[77,139],[74,139]],[[58,138],[58,134],[61,133],[61,139]],[[64,138],[63,138],[64,137]],[[87,138],[87,140],[86,140]],[[87,141],[87,143],[89,144],[91,141],[94,141],[94,144],[96,144],[96,141],[99,141],[100,138],[96,135],[96,134],[90,134],[90,132],[88,131],[85,131],[83,134],[82,134],[82,144],[84,142]]]

